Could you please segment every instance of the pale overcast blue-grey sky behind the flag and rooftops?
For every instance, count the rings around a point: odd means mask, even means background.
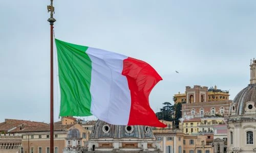
[[[0,122],[50,121],[49,4],[1,1]],[[54,0],[54,6],[57,39],[140,59],[159,72],[163,81],[150,95],[155,112],[185,86],[217,85],[233,99],[249,84],[254,0]],[[58,105],[55,98],[55,121]]]

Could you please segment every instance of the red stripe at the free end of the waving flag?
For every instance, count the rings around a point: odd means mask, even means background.
[[[127,78],[131,91],[132,104],[128,125],[166,127],[157,119],[148,101],[151,90],[162,80],[156,70],[144,61],[129,57],[123,61],[122,75]]]

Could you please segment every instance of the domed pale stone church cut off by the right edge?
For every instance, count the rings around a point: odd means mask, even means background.
[[[228,116],[227,151],[256,152],[256,60],[250,64],[250,84],[234,98]]]

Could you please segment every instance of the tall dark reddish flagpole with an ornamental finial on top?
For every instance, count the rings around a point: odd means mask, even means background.
[[[54,7],[53,0],[51,0],[51,5],[47,6],[48,12],[50,13],[50,18],[47,20],[50,22],[51,28],[51,83],[50,83],[50,152],[53,153],[53,23],[56,21],[53,18]]]

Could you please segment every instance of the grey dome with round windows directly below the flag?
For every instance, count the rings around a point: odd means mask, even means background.
[[[143,125],[113,125],[102,120],[97,120],[91,134],[91,139],[154,139],[154,134],[150,126]]]

